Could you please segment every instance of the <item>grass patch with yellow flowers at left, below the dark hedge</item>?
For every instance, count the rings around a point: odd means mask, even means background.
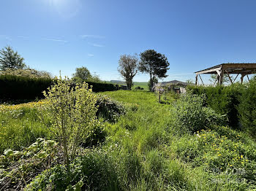
[[[23,149],[37,138],[52,136],[38,117],[38,108],[42,101],[0,106],[0,153],[4,149]]]

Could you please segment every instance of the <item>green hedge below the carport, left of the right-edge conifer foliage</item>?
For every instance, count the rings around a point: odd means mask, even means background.
[[[217,87],[188,86],[192,93],[206,94],[206,105],[210,106],[219,114],[227,114],[229,123],[238,127],[238,105],[245,85],[233,84],[229,86],[219,85]]]

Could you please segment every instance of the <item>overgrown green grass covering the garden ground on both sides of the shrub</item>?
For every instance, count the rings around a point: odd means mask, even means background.
[[[116,122],[102,123],[105,141],[73,164],[73,184],[79,176],[86,177],[83,189],[88,190],[256,189],[256,144],[246,133],[222,125],[195,133],[180,128],[175,109],[183,103],[171,95],[159,104],[157,96],[146,91],[104,94],[121,101],[127,113]],[[40,104],[43,101],[0,107],[1,154],[7,148],[21,150],[38,137],[54,139],[37,117]],[[58,174],[54,184],[65,190],[62,168],[53,168],[31,184],[53,184],[53,173]]]

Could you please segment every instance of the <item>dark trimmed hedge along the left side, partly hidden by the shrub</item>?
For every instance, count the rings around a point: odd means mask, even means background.
[[[105,82],[87,82],[94,92],[116,90],[116,86]],[[34,100],[44,98],[42,91],[53,85],[53,79],[0,75],[0,101]]]

